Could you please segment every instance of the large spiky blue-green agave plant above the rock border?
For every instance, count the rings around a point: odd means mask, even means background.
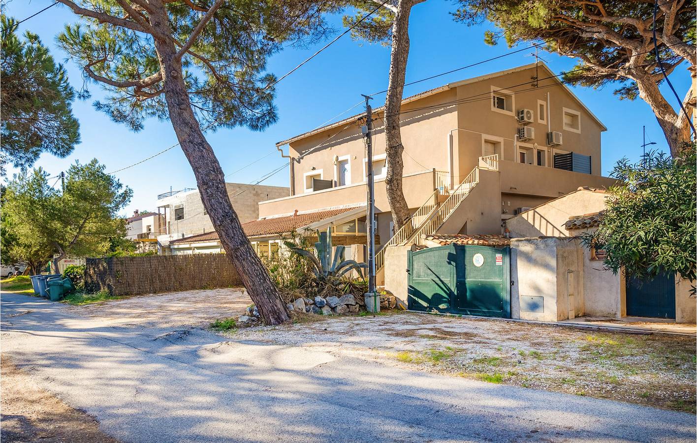
[[[346,249],[346,247],[342,245],[337,246],[334,257],[332,258],[331,226],[327,228],[326,232],[316,232],[317,239],[319,240],[314,244],[314,249],[317,251],[316,255],[312,251],[296,247],[291,242],[285,242],[285,244],[295,254],[307,258],[310,263],[314,265],[313,271],[318,279],[339,279],[339,277],[342,277],[346,272],[351,270],[360,272],[360,268],[368,267],[365,263],[358,263],[355,260],[341,261],[344,258],[344,249]]]

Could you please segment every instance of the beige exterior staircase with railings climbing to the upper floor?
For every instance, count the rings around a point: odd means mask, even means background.
[[[406,246],[421,244],[422,236],[434,234],[452,215],[460,203],[472,192],[479,183],[480,168],[498,171],[498,155],[480,157],[480,165],[475,167],[457,187],[450,190],[440,182],[433,194],[421,205],[410,219],[399,228],[390,241],[375,254],[375,274],[378,281],[384,281],[385,251],[388,246]],[[444,183],[444,181],[443,181]]]

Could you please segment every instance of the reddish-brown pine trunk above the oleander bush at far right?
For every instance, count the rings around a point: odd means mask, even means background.
[[[678,118],[678,114],[670,103],[664,98],[656,81],[643,72],[631,75],[639,88],[639,96],[651,107],[658,124],[668,141],[671,156],[676,157],[680,153],[680,146],[690,139],[690,128],[687,118]],[[688,116],[689,118],[689,116]]]

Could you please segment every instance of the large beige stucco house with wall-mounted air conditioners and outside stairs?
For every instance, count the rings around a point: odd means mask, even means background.
[[[401,109],[404,196],[414,216],[396,235],[383,109],[373,113],[378,282],[385,244],[433,233],[500,234],[517,212],[613,182],[601,176],[606,127],[543,63],[434,88],[404,99]],[[287,148],[290,195],[261,201],[259,218],[365,205],[362,124],[362,115],[353,116],[277,143]],[[365,215],[355,221],[360,226]]]

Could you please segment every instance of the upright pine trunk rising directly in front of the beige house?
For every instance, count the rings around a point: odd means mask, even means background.
[[[387,96],[385,97],[385,140],[387,147],[388,171],[385,176],[388,202],[392,210],[392,221],[395,223],[395,231],[404,226],[409,219],[409,207],[404,199],[402,190],[402,175],[404,173],[404,160],[402,153],[404,146],[401,143],[401,131],[399,127],[399,111],[401,99],[404,93],[404,76],[406,75],[406,62],[409,56],[409,15],[411,7],[419,0],[400,0],[397,4],[395,20],[392,24],[392,53],[390,54],[390,82]]]

